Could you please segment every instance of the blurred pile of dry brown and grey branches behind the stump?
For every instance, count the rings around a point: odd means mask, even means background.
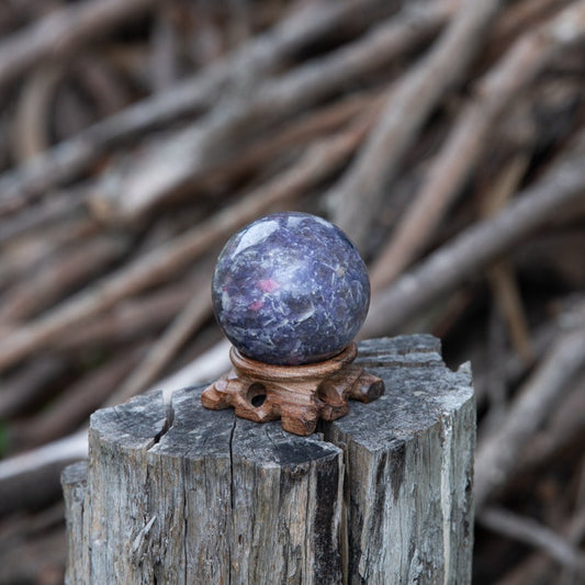
[[[63,578],[91,412],[227,367],[214,260],[283,209],[363,336],[472,360],[476,583],[582,582],[585,1],[3,2],[0,104],[1,583]]]

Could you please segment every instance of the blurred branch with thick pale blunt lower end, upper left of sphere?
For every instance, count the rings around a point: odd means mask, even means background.
[[[166,199],[188,192],[207,169],[238,154],[250,132],[257,135],[268,124],[297,114],[392,63],[432,35],[452,10],[452,0],[427,5],[421,13],[407,10],[325,57],[258,87],[244,86],[203,119],[164,143],[153,143],[130,167],[122,165],[117,173],[109,173],[93,199],[105,199],[104,205],[115,206],[122,220],[140,217]]]

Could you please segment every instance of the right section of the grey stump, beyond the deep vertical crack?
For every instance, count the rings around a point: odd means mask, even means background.
[[[348,582],[471,583],[469,364],[447,369],[431,336],[364,341],[356,361],[386,392],[325,432],[345,451]]]

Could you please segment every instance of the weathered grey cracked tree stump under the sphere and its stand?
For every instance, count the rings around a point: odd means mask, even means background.
[[[297,437],[204,386],[97,412],[64,488],[68,583],[469,583],[475,410],[430,336],[364,341],[385,394]]]

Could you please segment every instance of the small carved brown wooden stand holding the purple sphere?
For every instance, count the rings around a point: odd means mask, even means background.
[[[384,382],[352,363],[356,344],[317,363],[273,365],[251,360],[235,347],[234,369],[207,386],[201,396],[205,408],[233,406],[236,416],[267,423],[278,418],[295,435],[315,431],[319,418],[335,420],[349,412],[348,398],[369,403],[384,393]]]

